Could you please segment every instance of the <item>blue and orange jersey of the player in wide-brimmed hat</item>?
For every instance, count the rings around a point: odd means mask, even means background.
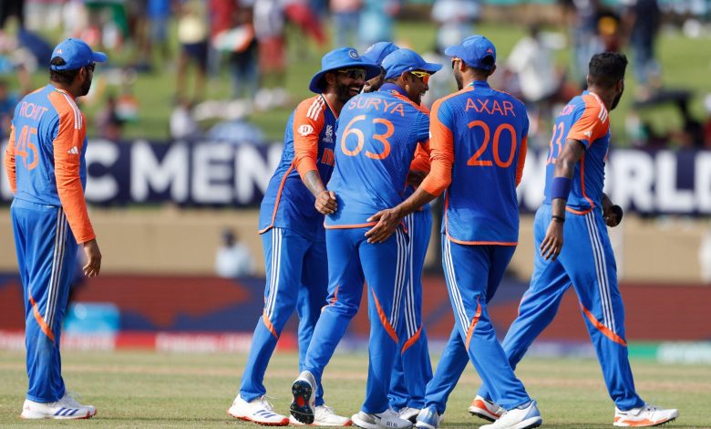
[[[291,229],[323,242],[324,215],[302,178],[316,171],[327,183],[334,170],[335,121],[338,115],[323,95],[304,99],[286,124],[282,160],[267,186],[259,215],[259,233]]]

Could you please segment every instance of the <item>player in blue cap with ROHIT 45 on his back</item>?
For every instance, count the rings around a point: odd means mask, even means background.
[[[67,393],[59,340],[77,246],[85,276],[98,276],[101,252],[89,221],[87,123],[76,99],[87,95],[96,63],[107,56],[67,38],[55,47],[49,84],[15,108],[5,170],[14,196],[10,214],[25,298],[25,419],[88,419],[97,413]]]

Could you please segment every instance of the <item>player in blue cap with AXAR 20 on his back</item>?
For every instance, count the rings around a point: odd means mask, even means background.
[[[492,395],[508,410],[493,427],[536,427],[541,414],[505,360],[488,311],[518,244],[516,186],[529,122],[520,100],[487,83],[496,71],[489,39],[467,37],[445,53],[452,57],[459,92],[432,107],[431,171],[405,202],[374,216],[379,222],[368,236],[380,242],[404,215],[445,193],[442,259],[456,323],[428,383],[417,427],[438,427],[467,361],[495,386]]]

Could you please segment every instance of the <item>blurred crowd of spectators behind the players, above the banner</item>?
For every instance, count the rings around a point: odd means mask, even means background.
[[[235,131],[263,142],[249,121],[254,110],[291,107],[283,82],[289,44],[313,56],[313,43],[324,50],[353,46],[359,51],[377,41],[394,40],[396,19],[429,19],[438,31],[429,61],[447,62],[444,47],[477,31],[489,0],[2,0],[0,2],[0,131],[5,135],[18,97],[30,88],[30,74],[45,68],[52,43],[80,37],[112,53],[120,68],[102,72],[108,85],[98,85],[88,102],[100,105],[95,126],[100,137],[120,140],[125,125],[137,120],[139,98],[133,83],[142,73],[174,79],[170,99],[170,136],[229,140]],[[553,0],[551,0],[553,3]],[[531,114],[531,143],[547,146],[551,118],[560,103],[580,91],[587,58],[603,50],[624,50],[633,63],[634,106],[625,119],[626,141],[640,147],[711,147],[711,98],[705,117],[695,118],[687,89],[666,89],[657,58],[663,26],[679,26],[687,37],[708,31],[711,0],[555,0],[562,12],[555,19],[526,18],[529,23],[508,58],[500,60],[496,85],[524,100]],[[431,5],[431,7],[429,7]],[[409,9],[408,9],[409,7]],[[414,11],[414,12],[413,12]],[[287,31],[294,26],[297,31]],[[327,31],[330,27],[332,31]],[[39,31],[41,29],[41,31]],[[51,33],[51,31],[50,31]],[[328,37],[328,35],[332,35]],[[562,52],[569,49],[568,64]],[[227,70],[230,93],[207,99],[211,78]],[[8,78],[18,85],[10,90]],[[425,103],[454,89],[446,73],[430,81]],[[94,96],[92,99],[92,95]],[[660,105],[678,111],[677,130],[654,129],[646,110]],[[211,125],[204,130],[204,122]],[[244,133],[242,131],[249,131]]]

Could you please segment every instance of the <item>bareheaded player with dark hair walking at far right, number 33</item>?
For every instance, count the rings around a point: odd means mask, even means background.
[[[627,58],[606,52],[591,58],[588,89],[559,113],[546,160],[545,200],[536,213],[531,286],[520,301],[503,348],[515,368],[529,346],[555,317],[571,286],[593,340],[607,391],[615,404],[613,425],[655,426],[671,422],[674,409],[644,403],[634,389],[617,267],[605,225],[616,226],[622,209],[603,194],[610,150],[610,117],[624,90]],[[563,237],[565,246],[563,246]],[[484,380],[470,411],[499,418],[496,385]],[[472,410],[473,408],[473,410]]]

